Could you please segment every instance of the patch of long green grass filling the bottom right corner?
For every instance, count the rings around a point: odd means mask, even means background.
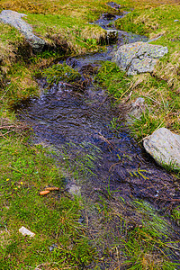
[[[175,269],[178,264],[171,263],[170,257],[178,247],[169,240],[175,232],[169,231],[168,222],[148,202],[131,202],[131,211],[135,224],[121,233],[117,246],[125,256],[122,265],[126,269]]]

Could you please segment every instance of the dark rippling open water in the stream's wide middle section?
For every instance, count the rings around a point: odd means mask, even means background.
[[[33,127],[35,142],[57,148],[73,143],[73,151],[80,149],[82,153],[88,153],[88,147],[81,149],[82,144],[99,148],[100,158],[93,169],[94,187],[105,189],[109,183],[122,197],[135,196],[150,202],[171,202],[179,197],[173,176],[157,166],[131,138],[120,110],[112,106],[103,89],[89,85],[84,94],[58,83],[47,94],[22,104],[19,117]],[[117,130],[112,128],[116,121]]]

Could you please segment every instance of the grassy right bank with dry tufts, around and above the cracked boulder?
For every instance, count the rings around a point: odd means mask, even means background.
[[[130,79],[130,99],[145,98],[147,112],[133,127],[139,139],[151,134],[157,127],[180,130],[180,76],[179,35],[180,6],[162,4],[137,7],[119,20],[117,27],[125,31],[144,34],[152,44],[166,46],[168,54],[159,60],[153,74],[133,76]],[[117,89],[118,92],[118,89]]]

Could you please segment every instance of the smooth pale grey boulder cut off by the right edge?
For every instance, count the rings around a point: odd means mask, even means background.
[[[143,145],[158,164],[180,168],[180,135],[160,128],[145,138]]]

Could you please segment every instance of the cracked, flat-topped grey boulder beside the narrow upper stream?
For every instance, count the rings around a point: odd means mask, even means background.
[[[135,42],[120,46],[112,55],[114,61],[128,75],[143,72],[152,72],[157,64],[157,59],[162,58],[168,49],[148,42]]]

